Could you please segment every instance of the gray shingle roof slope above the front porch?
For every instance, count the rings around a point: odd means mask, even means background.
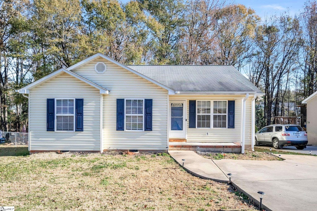
[[[231,65],[126,65],[175,91],[262,93]]]

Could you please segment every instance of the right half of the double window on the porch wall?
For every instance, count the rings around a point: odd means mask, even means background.
[[[214,101],[213,104],[213,128],[226,128],[227,101]]]

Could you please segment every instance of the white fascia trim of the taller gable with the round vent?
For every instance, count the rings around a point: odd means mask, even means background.
[[[118,62],[118,61],[116,61],[116,60],[114,60],[114,59],[111,59],[110,57],[107,57],[106,55],[104,55],[104,54],[102,54],[102,53],[96,53],[96,54],[94,54],[94,55],[88,57],[87,59],[84,59],[84,60],[82,60],[81,62],[78,62],[77,64],[74,64],[74,65],[68,67],[67,70],[68,70],[68,71],[72,71],[72,70],[74,70],[74,69],[76,69],[76,68],[78,68],[78,67],[80,67],[80,66],[82,66],[82,65],[85,65],[85,64],[87,64],[87,63],[89,63],[89,62],[91,62],[91,61],[94,61],[94,60],[97,59],[98,57],[101,57],[101,58],[103,58],[103,59],[106,59],[107,61],[109,61],[109,62],[111,62],[111,63],[113,63],[113,64],[115,64],[115,65],[118,65],[119,67],[122,67],[123,69],[125,69],[125,70],[127,70],[127,71],[130,71],[130,72],[134,73],[135,75],[137,75],[137,76],[139,76],[139,77],[141,77],[141,78],[144,78],[144,79],[146,79],[147,81],[149,81],[149,82],[151,82],[151,83],[153,83],[153,84],[155,84],[155,85],[158,85],[159,87],[161,87],[161,88],[163,88],[163,89],[165,89],[165,90],[168,90],[168,94],[169,94],[169,95],[175,95],[175,91],[172,90],[171,88],[169,88],[169,87],[167,87],[167,86],[165,86],[165,85],[163,85],[163,84],[161,84],[161,83],[159,83],[159,82],[153,80],[152,78],[149,78],[149,77],[147,77],[147,76],[145,76],[145,75],[143,75],[143,74],[141,74],[141,73],[139,73],[139,72],[137,72],[137,71],[131,69],[130,67],[127,67],[127,66],[124,65],[124,64],[121,64],[120,62]]]

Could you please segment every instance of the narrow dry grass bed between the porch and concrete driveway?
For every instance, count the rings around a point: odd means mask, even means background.
[[[234,159],[234,160],[279,160],[278,157],[272,154],[265,152],[252,152],[245,151],[244,154],[237,153],[216,153],[216,152],[197,152],[198,155],[203,156],[204,158],[210,158],[214,160],[219,159]]]

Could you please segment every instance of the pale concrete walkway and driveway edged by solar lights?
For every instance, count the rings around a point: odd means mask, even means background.
[[[169,151],[171,156],[192,174],[232,183],[258,202],[258,191],[266,193],[266,210],[315,210],[317,204],[317,157],[282,155],[284,161],[211,160],[192,151]]]

